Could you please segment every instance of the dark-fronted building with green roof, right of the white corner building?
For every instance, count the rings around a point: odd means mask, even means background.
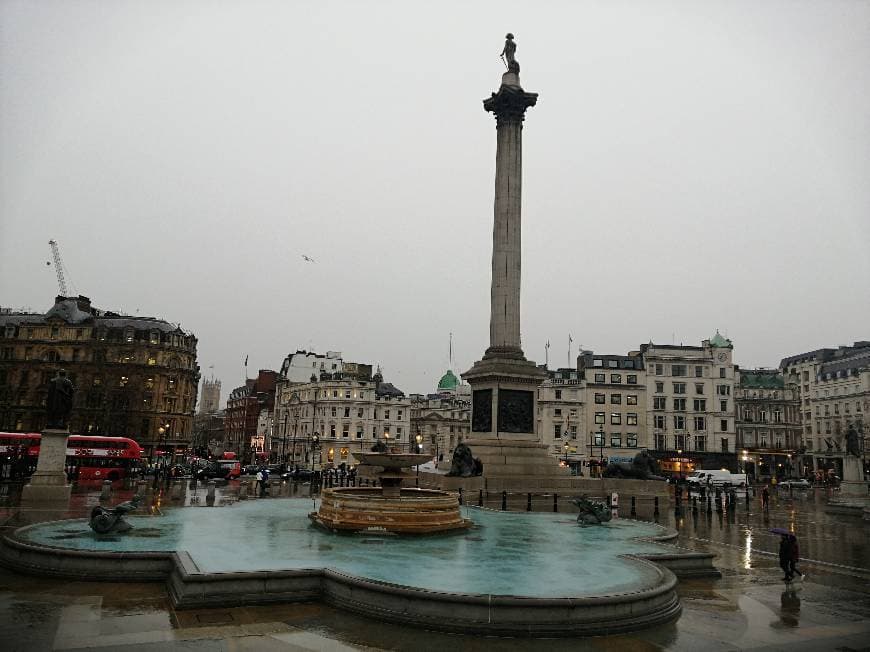
[[[777,370],[738,369],[735,405],[740,467],[751,478],[800,477],[803,468],[797,387]]]

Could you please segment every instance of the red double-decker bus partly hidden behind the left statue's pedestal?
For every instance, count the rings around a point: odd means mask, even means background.
[[[33,473],[41,439],[38,432],[0,432],[2,475],[11,479]],[[67,472],[80,482],[121,480],[141,461],[142,448],[127,437],[70,435],[67,439]]]

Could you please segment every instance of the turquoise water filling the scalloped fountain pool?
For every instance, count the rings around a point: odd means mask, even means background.
[[[468,509],[471,530],[404,538],[326,533],[310,525],[310,511],[309,500],[262,500],[130,516],[135,529],[116,536],[73,520],[40,524],[21,537],[78,550],[187,551],[204,572],[325,567],[435,591],[529,597],[632,591],[654,571],[620,555],[672,551],[637,540],[662,528],[627,520],[580,527],[566,514]]]

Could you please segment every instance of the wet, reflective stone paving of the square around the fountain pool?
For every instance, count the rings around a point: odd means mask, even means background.
[[[70,515],[98,503],[76,493]],[[266,500],[308,500],[267,498]],[[448,635],[365,620],[328,606],[299,604],[174,610],[162,583],[65,581],[0,571],[0,634],[9,650],[867,650],[870,649],[870,524],[826,514],[825,490],[739,500],[729,515],[662,506],[658,520],[678,544],[719,555],[718,580],[681,580],[675,623],[625,636],[508,639]],[[218,501],[220,503],[220,501]],[[565,511],[570,511],[567,505]],[[543,504],[543,503],[537,503]],[[536,504],[536,507],[537,507]],[[175,508],[180,509],[180,508]],[[190,507],[182,509],[200,509]],[[202,508],[206,509],[206,508]],[[234,505],[226,527],[244,545]],[[471,508],[471,509],[476,509]],[[640,510],[639,510],[640,511]],[[7,508],[5,517],[14,515]],[[786,586],[772,527],[801,537],[805,581]],[[578,552],[576,563],[583,563]]]

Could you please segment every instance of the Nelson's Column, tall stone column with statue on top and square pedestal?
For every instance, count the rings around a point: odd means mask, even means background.
[[[495,210],[489,348],[462,374],[472,389],[468,444],[485,477],[562,475],[535,432],[536,394],[546,372],[526,360],[520,346],[520,257],[523,120],[537,93],[520,86],[516,44],[508,34],[502,57],[508,71],[483,101],[496,119]]]

